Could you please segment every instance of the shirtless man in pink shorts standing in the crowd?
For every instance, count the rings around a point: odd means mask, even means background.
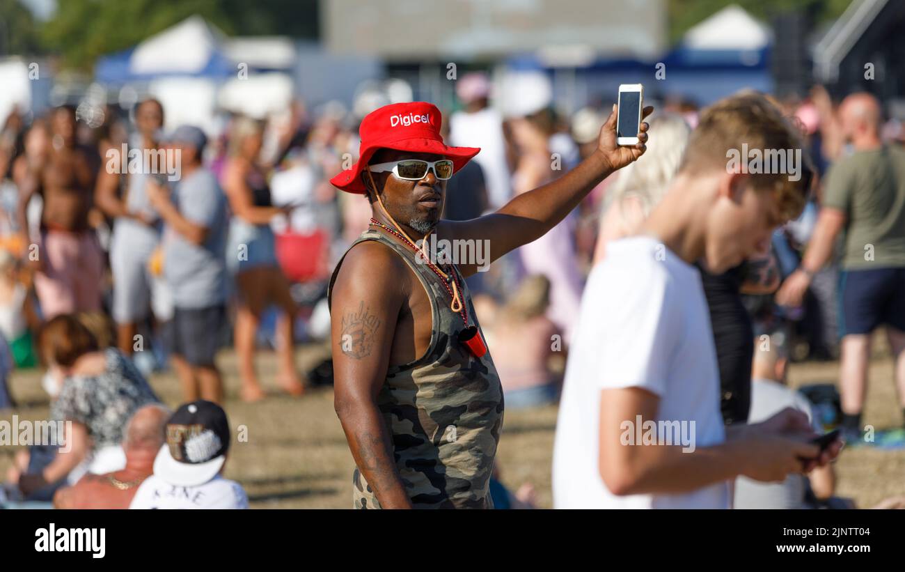
[[[98,163],[76,144],[75,110],[51,114],[51,141],[42,167],[31,169],[20,188],[20,228],[28,228],[32,196],[43,198],[40,236],[30,237],[26,256],[36,262],[34,287],[45,319],[74,311],[100,310],[103,258],[88,222]]]

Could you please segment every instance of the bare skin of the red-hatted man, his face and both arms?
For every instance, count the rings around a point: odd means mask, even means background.
[[[645,108],[643,117],[652,112],[652,107]],[[438,180],[432,170],[419,181],[399,179],[392,173],[362,173],[374,218],[394,227],[376,202],[379,193],[386,210],[413,241],[425,235],[413,228],[415,219],[433,224],[438,239],[489,241],[490,259],[495,261],[546,234],[606,176],[641,157],[647,141],[647,123],[642,123],[637,145],[617,147],[615,120],[614,106],[601,129],[597,149],[576,168],[547,185],[514,197],[496,213],[471,221],[440,220],[446,183]],[[403,158],[433,161],[442,157],[381,149],[370,163]],[[392,234],[386,235],[400,242]],[[459,271],[470,276],[478,271],[478,266],[460,264]],[[361,280],[363,276],[367,280]],[[376,400],[386,381],[387,367],[408,363],[427,351],[432,334],[430,299],[414,272],[396,253],[381,243],[365,242],[351,249],[340,267],[333,285],[332,314],[334,406],[349,449],[381,507],[411,508]]]

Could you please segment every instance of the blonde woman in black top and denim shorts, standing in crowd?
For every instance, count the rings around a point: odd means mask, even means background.
[[[295,368],[292,321],[296,304],[289,282],[276,258],[271,219],[286,209],[273,205],[260,155],[262,124],[240,118],[233,124],[229,158],[224,167],[223,186],[233,220],[226,261],[235,274],[237,287],[235,349],[242,377],[242,398],[257,401],[264,396],[254,370],[255,336],[261,316],[271,303],[281,310],[277,319],[278,382],[287,393],[304,391]]]

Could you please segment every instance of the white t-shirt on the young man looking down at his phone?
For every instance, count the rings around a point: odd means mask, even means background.
[[[725,441],[698,270],[651,237],[608,243],[588,278],[572,340],[553,454],[556,508],[728,509],[728,481],[683,494],[619,497],[597,464],[602,389],[641,387],[660,396],[651,421],[686,422],[695,448]]]

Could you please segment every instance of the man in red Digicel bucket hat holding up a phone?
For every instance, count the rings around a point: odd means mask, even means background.
[[[443,144],[440,111],[423,101],[362,120],[358,162],[330,181],[367,195],[373,211],[329,286],[335,407],[357,464],[356,508],[491,508],[503,399],[464,281],[478,261],[426,252],[427,237],[488,244],[492,262],[547,233],[643,154],[647,123],[640,143],[617,147],[615,111],[575,169],[462,222],[440,220],[445,182],[480,149]]]

